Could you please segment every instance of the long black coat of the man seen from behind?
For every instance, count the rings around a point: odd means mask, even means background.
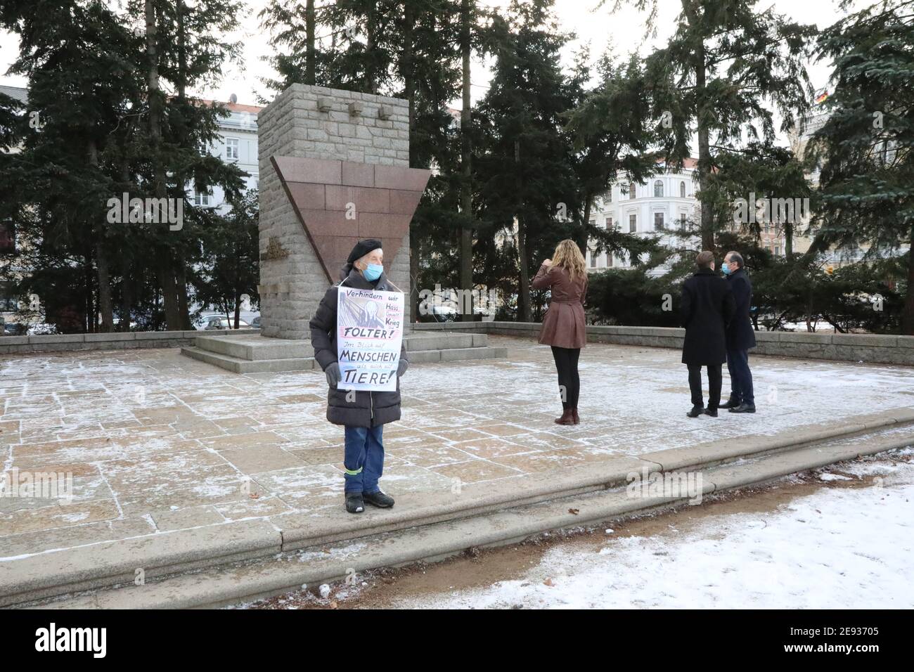
[[[711,269],[699,269],[683,283],[679,310],[685,326],[683,363],[706,366],[726,362],[725,330],[736,311],[727,281]]]

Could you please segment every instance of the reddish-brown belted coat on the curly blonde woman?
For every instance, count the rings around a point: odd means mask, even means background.
[[[587,323],[584,320],[587,275],[572,282],[565,269],[544,264],[533,279],[533,288],[547,287],[552,290],[552,299],[539,330],[539,342],[547,346],[584,347],[587,343]]]

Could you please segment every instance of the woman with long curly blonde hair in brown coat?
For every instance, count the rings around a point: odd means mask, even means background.
[[[562,240],[552,259],[543,261],[534,289],[552,290],[549,308],[539,330],[539,342],[552,347],[558,370],[558,389],[562,397],[562,414],[557,424],[578,424],[580,378],[578,357],[587,342],[584,322],[584,299],[587,296],[587,266],[574,240]]]

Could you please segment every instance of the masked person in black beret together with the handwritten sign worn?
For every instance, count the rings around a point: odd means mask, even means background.
[[[314,360],[327,377],[327,420],[344,427],[345,509],[394,506],[377,485],[383,429],[400,418],[399,378],[407,368],[403,293],[384,274],[379,240],[360,240],[340,283],[327,290],[309,326]]]

